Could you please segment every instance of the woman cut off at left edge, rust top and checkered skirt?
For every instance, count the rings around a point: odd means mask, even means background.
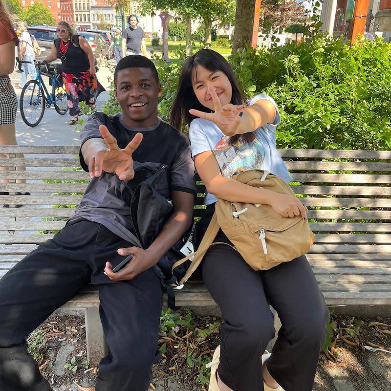
[[[9,78],[9,74],[13,72],[15,67],[15,46],[18,43],[19,39],[13,28],[13,20],[7,13],[3,0],[0,0],[0,145],[18,144],[15,135],[18,101]],[[9,155],[0,153],[0,157],[9,157]],[[24,156],[17,154],[16,157]],[[5,170],[8,170],[8,167],[0,167],[0,171]],[[25,168],[17,167],[16,170],[24,171]],[[0,182],[8,183],[9,179],[0,179]],[[18,179],[16,182],[24,183],[25,180]],[[17,195],[21,194],[17,193]],[[29,193],[23,193],[23,195],[25,194]],[[9,195],[9,193],[1,192],[0,195]]]

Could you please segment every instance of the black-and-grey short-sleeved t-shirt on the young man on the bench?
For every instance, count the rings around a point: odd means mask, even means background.
[[[81,147],[90,138],[102,138],[99,132],[102,124],[117,139],[122,149],[136,133],[143,133],[141,144],[132,154],[133,160],[165,165],[169,174],[170,193],[174,190],[196,195],[195,168],[189,139],[161,119],[151,128],[134,129],[124,124],[121,113],[108,116],[98,112],[91,115],[80,134],[80,164],[85,171],[88,172],[88,166]],[[116,175],[107,173],[92,178],[75,214],[69,220],[85,219],[100,223],[120,238],[134,243],[134,236],[130,232],[130,207],[121,197],[121,182]]]

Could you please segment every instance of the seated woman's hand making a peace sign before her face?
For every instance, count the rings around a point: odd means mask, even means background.
[[[211,94],[215,112],[206,113],[204,111],[190,109],[190,114],[214,122],[226,136],[237,134],[243,114],[240,110],[244,108],[244,105],[232,105],[229,103],[221,106],[215,88],[209,86],[208,92]]]

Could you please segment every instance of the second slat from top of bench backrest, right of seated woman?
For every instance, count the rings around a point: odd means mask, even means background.
[[[391,163],[285,161],[288,170],[294,171],[376,171],[391,172]]]

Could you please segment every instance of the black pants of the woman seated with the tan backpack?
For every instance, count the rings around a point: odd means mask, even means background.
[[[220,232],[216,241],[228,239]],[[236,250],[216,245],[202,278],[224,319],[221,380],[234,391],[263,390],[261,354],[275,334],[271,304],[282,327],[267,369],[285,391],[311,391],[329,312],[305,256],[254,271]]]

